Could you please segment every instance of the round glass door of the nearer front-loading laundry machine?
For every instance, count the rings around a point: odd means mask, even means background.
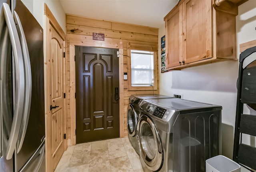
[[[147,168],[157,171],[162,168],[164,152],[156,125],[147,115],[138,122],[140,156]]]

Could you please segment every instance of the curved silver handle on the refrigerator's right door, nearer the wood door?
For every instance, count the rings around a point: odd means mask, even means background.
[[[14,22],[16,23],[18,34],[20,37],[20,44],[22,48],[22,55],[23,55],[23,61],[24,61],[24,73],[25,73],[24,108],[23,108],[22,123],[20,127],[18,143],[17,143],[18,144],[17,153],[19,153],[20,149],[22,148],[23,141],[26,135],[26,130],[28,127],[28,119],[29,119],[30,106],[31,106],[32,75],[31,75],[31,65],[30,65],[30,57],[28,53],[27,41],[23,31],[22,24],[20,22],[20,18],[16,13],[16,11],[14,11]]]

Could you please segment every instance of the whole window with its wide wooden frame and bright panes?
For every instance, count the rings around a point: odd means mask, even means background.
[[[157,59],[157,44],[128,43],[128,90],[157,90]]]

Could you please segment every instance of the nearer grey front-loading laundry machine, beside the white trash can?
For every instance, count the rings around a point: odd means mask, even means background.
[[[143,100],[138,121],[144,171],[204,172],[221,152],[221,106],[179,98]]]

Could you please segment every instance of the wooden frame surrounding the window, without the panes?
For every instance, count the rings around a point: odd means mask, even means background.
[[[152,51],[154,52],[154,85],[153,86],[132,86],[132,70],[131,70],[131,50],[140,50],[140,51]],[[158,73],[157,73],[157,65],[158,65],[158,51],[157,47],[152,45],[138,45],[128,43],[127,45],[127,81],[128,81],[128,90],[157,90],[158,88]]]

